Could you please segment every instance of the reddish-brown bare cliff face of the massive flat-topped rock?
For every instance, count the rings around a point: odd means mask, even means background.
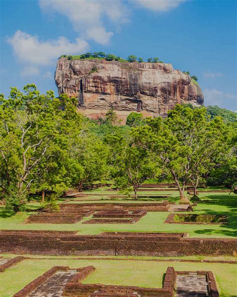
[[[78,109],[90,118],[113,108],[124,122],[132,111],[165,116],[176,103],[203,104],[197,84],[171,64],[105,60],[57,61],[58,93],[78,98]]]

